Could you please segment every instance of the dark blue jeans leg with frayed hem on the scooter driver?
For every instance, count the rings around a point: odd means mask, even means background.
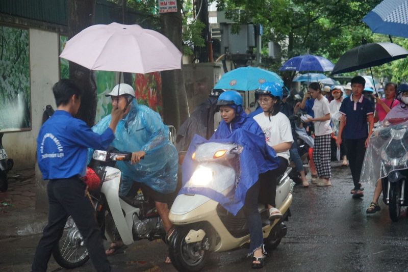
[[[252,187],[248,189],[245,196],[244,213],[248,223],[249,238],[251,240],[248,256],[252,255],[252,253],[259,248],[262,248],[265,254],[261,214],[258,211],[260,184],[259,181],[253,184]]]

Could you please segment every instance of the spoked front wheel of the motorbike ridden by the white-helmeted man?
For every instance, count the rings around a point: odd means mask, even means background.
[[[53,256],[59,265],[67,269],[80,267],[89,260],[84,239],[71,216],[67,219],[61,239],[53,249]]]

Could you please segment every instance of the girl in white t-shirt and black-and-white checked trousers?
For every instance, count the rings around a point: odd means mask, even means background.
[[[317,175],[317,186],[330,186],[331,177],[331,127],[330,127],[330,107],[327,98],[322,94],[320,84],[317,82],[309,85],[309,92],[315,99],[313,112],[315,118],[310,118],[305,122],[315,124],[315,143],[313,145],[313,160],[315,162]]]

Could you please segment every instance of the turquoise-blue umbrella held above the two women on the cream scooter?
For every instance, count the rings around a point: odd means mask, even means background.
[[[241,67],[223,74],[214,89],[250,91],[258,89],[265,81],[284,83],[274,72],[256,67]]]

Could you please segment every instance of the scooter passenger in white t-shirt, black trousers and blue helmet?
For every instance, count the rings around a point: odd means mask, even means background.
[[[281,110],[283,85],[265,82],[255,91],[263,113],[253,117],[265,134],[266,143],[276,151],[279,167],[260,175],[261,199],[269,199],[270,219],[282,217],[281,211],[275,208],[277,177],[282,175],[289,165],[289,149],[293,143],[290,121]],[[267,189],[262,189],[267,188]],[[268,196],[265,196],[270,192]]]

